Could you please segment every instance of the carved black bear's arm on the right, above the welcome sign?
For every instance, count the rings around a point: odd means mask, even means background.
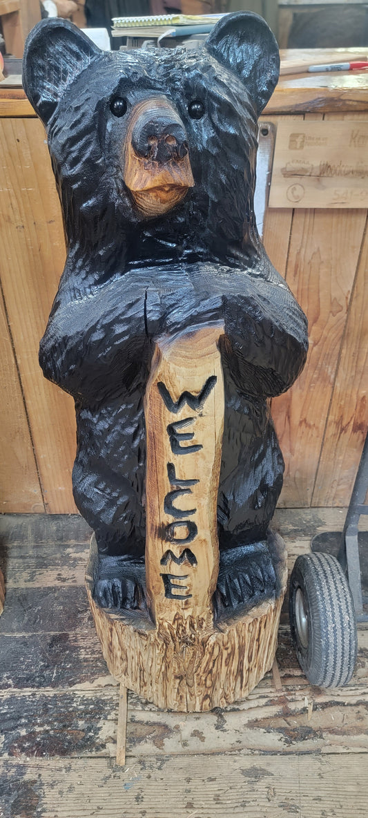
[[[252,269],[198,264],[187,268],[191,297],[163,314],[168,333],[180,322],[223,321],[222,358],[241,391],[272,397],[289,389],[307,357],[307,319],[264,256]],[[193,305],[195,304],[195,308]]]

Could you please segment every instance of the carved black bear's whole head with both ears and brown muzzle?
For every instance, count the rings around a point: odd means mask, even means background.
[[[101,52],[66,20],[25,47],[70,252],[114,267],[257,256],[257,117],[278,78],[262,18],[222,18],[199,51]],[[80,254],[80,253],[79,253]]]

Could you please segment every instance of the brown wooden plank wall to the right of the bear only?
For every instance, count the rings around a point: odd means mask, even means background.
[[[306,114],[305,119],[366,119]],[[265,245],[309,321],[307,366],[272,402],[285,457],[280,506],[346,506],[368,425],[367,212],[268,210]],[[287,232],[278,246],[279,219]],[[289,218],[289,222],[288,222]]]

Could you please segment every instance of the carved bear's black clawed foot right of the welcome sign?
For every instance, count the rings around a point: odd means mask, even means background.
[[[220,551],[218,585],[213,596],[216,619],[276,599],[277,591],[276,570],[267,542]]]

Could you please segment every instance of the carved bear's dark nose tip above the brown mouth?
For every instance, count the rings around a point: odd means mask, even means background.
[[[166,164],[184,159],[188,142],[183,125],[165,112],[137,120],[132,130],[132,148],[144,159]]]

